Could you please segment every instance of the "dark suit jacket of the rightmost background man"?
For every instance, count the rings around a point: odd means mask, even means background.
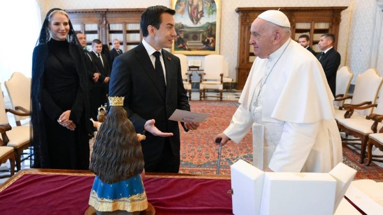
[[[322,52],[318,53],[317,59],[321,63],[324,73],[327,78],[328,86],[330,86],[332,95],[335,96],[335,89],[337,85],[337,71],[341,64],[341,55],[333,47],[326,52],[321,58]]]

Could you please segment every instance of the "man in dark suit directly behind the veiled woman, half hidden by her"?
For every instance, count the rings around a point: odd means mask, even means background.
[[[95,62],[92,61],[91,53],[86,49],[86,37],[83,33],[77,33],[76,34],[77,39],[79,40],[81,47],[84,50],[84,58],[85,58],[85,65],[86,65],[86,71],[88,76],[88,92],[89,92],[89,100],[90,100],[90,117],[93,120],[97,120],[97,109],[99,107],[99,104],[95,103],[93,104],[92,101],[95,96],[98,97],[98,95],[94,95],[93,89],[95,84],[98,82],[100,73],[97,71],[97,67],[95,66]]]

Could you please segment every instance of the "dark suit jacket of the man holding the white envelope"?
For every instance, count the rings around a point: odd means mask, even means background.
[[[145,47],[137,47],[114,59],[109,83],[109,96],[125,96],[124,107],[137,133],[143,132],[145,122],[154,119],[155,126],[163,132],[173,132],[169,137],[175,156],[180,154],[180,133],[178,122],[168,120],[176,109],[190,111],[188,98],[183,88],[180,60],[162,49],[166,72],[166,92],[161,91],[160,80],[155,73]],[[146,132],[141,141],[145,162],[159,157],[165,138]]]

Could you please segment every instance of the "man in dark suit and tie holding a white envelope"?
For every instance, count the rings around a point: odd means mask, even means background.
[[[180,131],[178,122],[168,119],[176,109],[190,111],[180,60],[163,49],[171,48],[177,35],[174,14],[164,6],[147,8],[141,14],[142,42],[115,58],[111,72],[109,96],[125,96],[136,132],[148,131],[141,141],[148,172],[179,171]],[[186,131],[198,126],[183,124]]]

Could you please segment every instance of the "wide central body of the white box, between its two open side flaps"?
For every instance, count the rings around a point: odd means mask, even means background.
[[[260,214],[332,214],[336,186],[328,173],[266,172]]]

